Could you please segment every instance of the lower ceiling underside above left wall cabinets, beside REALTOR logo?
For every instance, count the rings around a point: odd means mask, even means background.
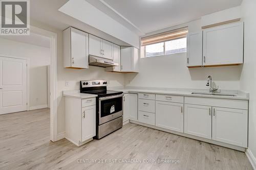
[[[69,0],[33,0],[30,1],[30,18],[33,22],[40,25],[44,23],[58,30],[65,30],[69,26],[82,30],[84,32],[96,35],[103,39],[109,40],[113,43],[129,46],[126,42],[123,42],[109,34],[106,34],[97,28],[93,28],[86,23],[79,21],[69,15],[66,15],[58,9],[65,5]],[[97,0],[98,1],[98,0]],[[39,22],[38,22],[39,21]],[[47,28],[47,27],[46,27]],[[44,28],[42,28],[44,29]]]

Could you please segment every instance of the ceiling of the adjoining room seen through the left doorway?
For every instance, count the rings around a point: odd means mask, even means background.
[[[0,36],[0,38],[28,43],[28,44],[42,46],[42,47],[47,47],[47,48],[50,48],[50,43],[51,43],[51,40],[49,37],[45,37],[45,36],[34,34],[34,33],[30,33],[30,35],[28,36],[24,36],[24,35]]]

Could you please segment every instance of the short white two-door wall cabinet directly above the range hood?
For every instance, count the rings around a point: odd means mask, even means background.
[[[89,35],[89,55],[113,60],[113,43],[94,35]]]

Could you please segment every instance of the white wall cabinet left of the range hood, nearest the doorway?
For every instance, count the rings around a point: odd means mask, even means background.
[[[63,31],[63,65],[65,68],[88,68],[89,34],[72,27]]]

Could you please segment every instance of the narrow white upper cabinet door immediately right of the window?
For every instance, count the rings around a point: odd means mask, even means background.
[[[187,66],[201,66],[203,56],[203,32],[187,34]]]

